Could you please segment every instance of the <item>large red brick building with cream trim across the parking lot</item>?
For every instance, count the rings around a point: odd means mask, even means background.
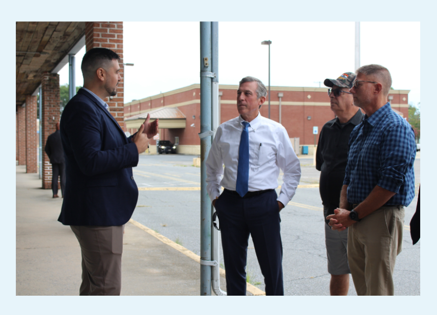
[[[220,123],[238,116],[238,85],[219,85]],[[391,90],[388,99],[391,108],[408,119],[409,90]],[[313,127],[319,132],[323,125],[334,118],[330,109],[328,88],[271,87],[270,117],[280,122],[290,138],[299,138],[300,147],[308,146],[313,153],[315,137]],[[281,117],[279,118],[279,103]],[[166,109],[164,111],[164,109]],[[136,132],[147,113],[160,119],[160,140],[179,143],[177,152],[200,154],[200,84],[124,104],[125,131]],[[261,115],[269,116],[268,101],[260,109]],[[319,135],[316,135],[316,143]],[[153,140],[150,144],[155,145]],[[156,146],[150,152],[156,152]],[[300,151],[301,152],[301,151]]]

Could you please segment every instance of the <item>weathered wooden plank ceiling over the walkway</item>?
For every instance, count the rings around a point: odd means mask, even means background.
[[[26,95],[40,86],[42,73],[54,72],[84,35],[85,22],[16,22],[16,106],[25,103]]]

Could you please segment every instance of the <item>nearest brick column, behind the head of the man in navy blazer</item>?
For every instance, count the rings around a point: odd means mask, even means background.
[[[117,95],[106,99],[109,111],[114,116],[120,127],[126,131],[124,126],[124,65],[123,65],[123,22],[85,22],[85,43],[86,50],[102,47],[108,48],[117,53],[121,60],[120,75],[121,82],[117,86]]]

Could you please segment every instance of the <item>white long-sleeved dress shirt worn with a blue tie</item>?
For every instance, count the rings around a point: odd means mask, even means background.
[[[211,201],[220,195],[220,186],[235,190],[243,121],[243,118],[238,116],[222,123],[217,129],[206,160],[207,190]],[[249,127],[249,191],[277,188],[279,168],[284,173],[284,183],[277,200],[286,206],[299,184],[299,159],[294,153],[285,128],[258,113]]]

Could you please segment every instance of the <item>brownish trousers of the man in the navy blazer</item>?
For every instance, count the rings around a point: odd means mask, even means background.
[[[82,251],[79,295],[120,295],[124,224],[70,227]]]

